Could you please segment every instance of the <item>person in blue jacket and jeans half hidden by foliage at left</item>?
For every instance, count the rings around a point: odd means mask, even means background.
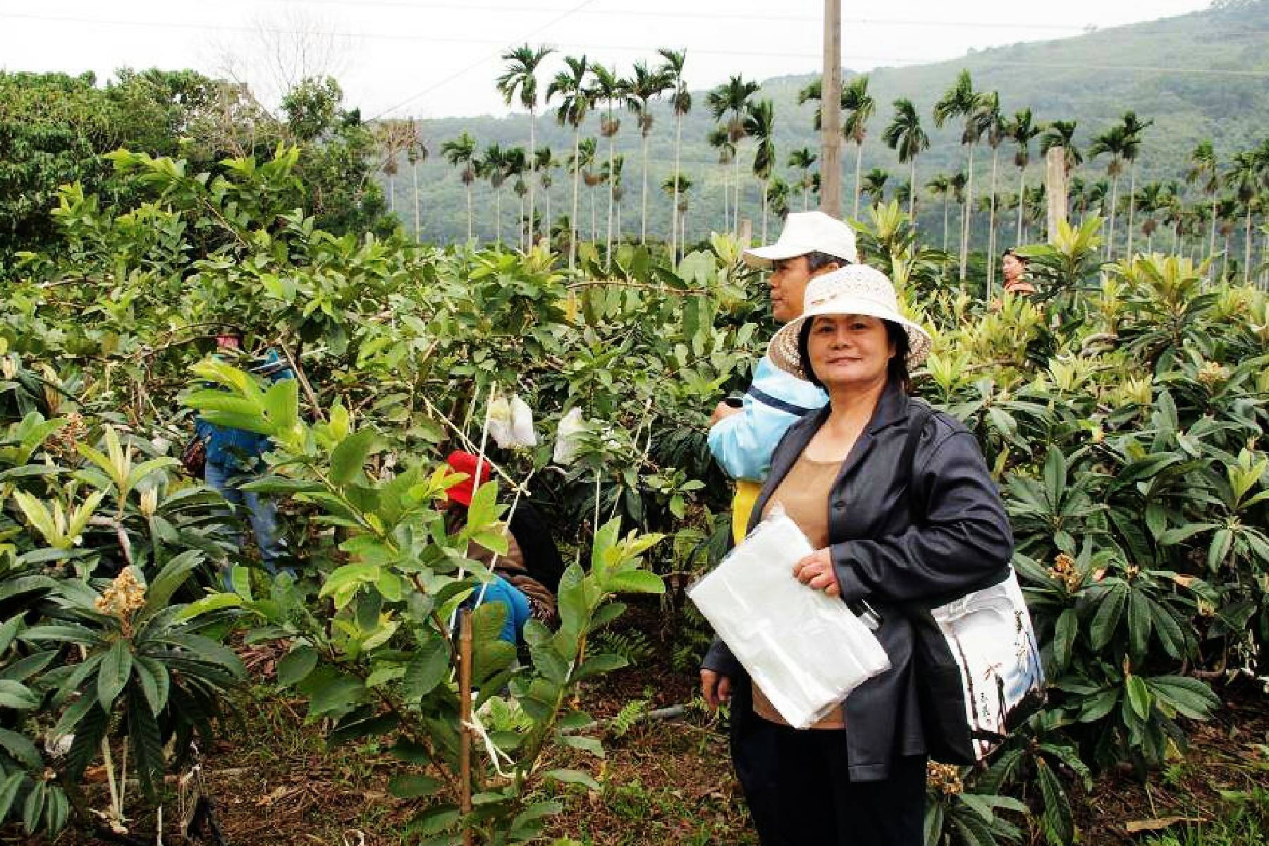
[[[216,346],[218,355],[239,356],[242,353],[242,339],[237,334],[226,332],[216,337]],[[269,350],[251,372],[269,382],[294,378],[294,373],[275,350]],[[286,540],[278,525],[278,506],[273,500],[240,487],[261,469],[260,457],[269,452],[269,438],[245,429],[217,426],[202,417],[194,425],[194,434],[207,448],[203,481],[230,505],[246,509],[255,544],[260,549],[260,562],[270,573],[277,573],[278,562],[286,554]]]

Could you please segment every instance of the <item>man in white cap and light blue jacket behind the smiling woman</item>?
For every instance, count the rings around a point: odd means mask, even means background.
[[[858,261],[855,233],[824,212],[789,214],[775,244],[745,250],[744,257],[745,264],[772,271],[772,316],[780,323],[802,315],[802,294],[811,279]],[[827,400],[824,391],[778,369],[764,355],[741,405],[723,401],[714,408],[709,450],[736,479],[731,526],[737,543],[745,537],[775,444],[794,421]]]

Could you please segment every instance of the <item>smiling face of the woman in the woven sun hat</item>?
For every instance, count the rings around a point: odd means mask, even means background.
[[[807,354],[816,378],[830,391],[886,381],[895,345],[886,322],[868,315],[822,315],[811,322]]]

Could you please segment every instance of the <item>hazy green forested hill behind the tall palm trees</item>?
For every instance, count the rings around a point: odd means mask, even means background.
[[[849,32],[845,34],[849,38]],[[650,56],[647,61],[657,57]],[[923,66],[877,68],[869,74],[869,93],[877,101],[877,113],[868,124],[868,138],[863,150],[864,171],[881,167],[891,172],[888,188],[906,180],[906,165],[900,165],[895,153],[881,141],[882,131],[891,120],[892,101],[897,96],[914,100],[920,110],[923,126],[931,137],[931,147],[917,161],[917,183],[924,184],[935,172],[950,172],[964,166],[964,148],[958,143],[959,128],[934,127],[930,110],[933,104],[952,86],[957,74],[966,68],[972,74],[977,90],[997,91],[1001,109],[1006,115],[1029,107],[1039,122],[1055,119],[1077,120],[1076,146],[1081,150],[1091,134],[1104,131],[1126,110],[1136,110],[1155,124],[1143,133],[1140,179],[1180,178],[1185,161],[1194,146],[1211,138],[1221,161],[1228,161],[1233,152],[1259,143],[1269,127],[1269,0],[1226,1],[1199,13],[1166,18],[1151,23],[1133,24],[1090,32],[1071,38],[1019,43],[1009,47],[972,52],[948,62]],[[628,68],[618,68],[626,72]],[[744,63],[736,72],[744,75]],[[692,56],[684,72],[692,81]],[[854,76],[848,72],[846,77]],[[775,109],[775,145],[779,167],[777,172],[792,181],[793,174],[784,166],[791,150],[808,146],[817,151],[817,136],[812,131],[812,104],[798,105],[797,94],[815,75],[772,79],[763,82],[759,98],[770,98]],[[489,81],[494,84],[492,80]],[[546,89],[546,80],[541,82]],[[709,226],[721,225],[722,169],[716,164],[717,152],[707,141],[714,126],[704,107],[706,93],[693,93],[693,109],[683,127],[681,170],[694,181],[690,192],[688,217],[689,236],[695,236]],[[622,131],[617,150],[624,153],[623,228],[631,231],[631,221],[637,228],[640,197],[640,137],[634,118],[622,115]],[[593,114],[582,128],[582,137],[598,137],[599,118]],[[453,169],[438,155],[440,145],[463,131],[472,133],[483,147],[490,142],[528,145],[528,119],[523,114],[510,118],[452,118],[426,120],[424,132],[431,151],[430,160],[421,166],[420,194],[423,231],[430,238],[459,236],[466,227],[466,199]],[[664,179],[673,170],[674,119],[669,108],[656,112],[656,124],[651,137],[650,230],[669,231],[669,200],[660,190]],[[571,153],[572,137],[558,127],[552,112],[538,118],[538,143],[548,145],[562,160]],[[741,166],[753,164],[751,145],[741,147]],[[607,141],[599,138],[598,157],[607,160]],[[1000,190],[1016,190],[1016,169],[1011,164],[1013,146],[1001,147]],[[1038,162],[1034,143],[1033,162]],[[980,150],[976,172],[982,174],[990,153]],[[854,181],[854,147],[843,150],[846,170],[844,190],[849,195]],[[1034,184],[1039,174],[1033,164]],[[1105,160],[1086,162],[1086,179],[1104,174]],[[562,211],[569,176],[562,170],[556,176],[552,190],[552,214]],[[511,223],[510,209],[515,197],[510,186],[504,189],[504,231]],[[410,208],[411,180],[396,179],[396,208],[407,225],[412,223]],[[607,197],[607,189],[599,189]],[[589,205],[582,188],[582,211],[589,223]],[[890,194],[887,193],[887,197]],[[492,209],[481,198],[489,198],[487,186],[477,189],[477,228],[492,233]],[[756,184],[746,188],[750,214],[759,214]],[[791,198],[789,204],[801,208],[801,199]],[[934,214],[933,203],[926,203],[926,213]],[[600,211],[603,217],[603,211]]]

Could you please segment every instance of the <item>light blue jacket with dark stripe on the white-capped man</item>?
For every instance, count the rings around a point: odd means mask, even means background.
[[[775,444],[788,427],[827,402],[824,391],[786,373],[764,355],[740,413],[709,429],[709,452],[732,478],[761,482],[770,472]]]

